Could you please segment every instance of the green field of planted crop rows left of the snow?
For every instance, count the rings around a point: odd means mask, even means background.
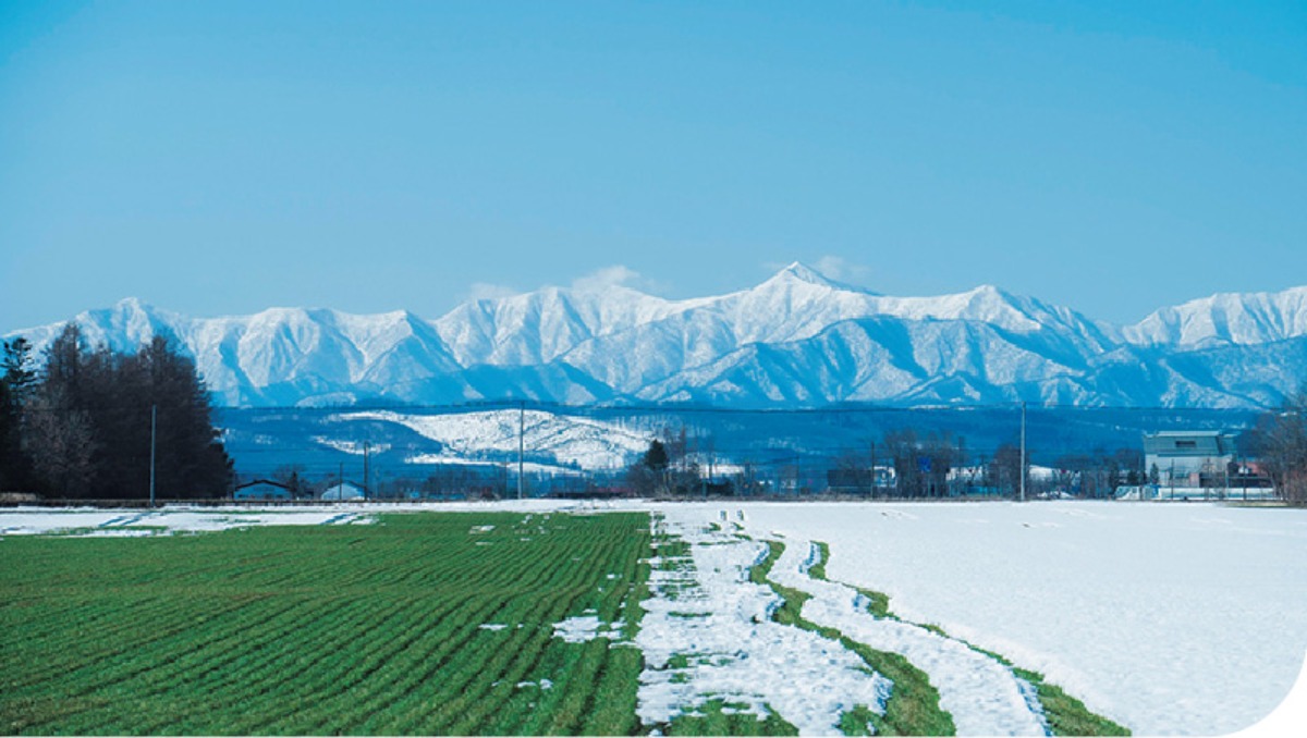
[[[9,537],[0,731],[637,733],[650,554],[643,513]],[[554,637],[588,613],[623,637]]]

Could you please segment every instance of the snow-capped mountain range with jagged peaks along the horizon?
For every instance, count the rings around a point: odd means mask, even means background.
[[[156,334],[231,406],[836,402],[1248,408],[1307,379],[1307,286],[1219,294],[1111,325],[993,286],[874,294],[792,264],[721,297],[545,287],[443,317],[272,308],[187,317],[125,299],[73,317],[91,346]],[[39,351],[61,324],[16,330]]]

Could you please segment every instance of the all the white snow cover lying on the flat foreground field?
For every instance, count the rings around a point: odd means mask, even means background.
[[[712,654],[729,643],[748,645],[729,653],[753,656],[746,667],[704,656],[676,681],[651,675],[642,701],[642,711],[651,716],[677,704],[693,708],[704,694],[741,683],[755,687],[749,694],[772,690],[766,692],[767,703],[806,731],[829,726],[833,711],[851,695],[874,709],[870,695],[878,686],[850,671],[851,662],[842,661],[847,654],[809,643],[810,634],[780,632],[780,626],[774,631],[759,618],[767,593],[749,584],[742,572],[762,553],[757,541],[769,538],[786,543],[772,579],[813,596],[805,618],[904,653],[931,674],[941,705],[954,713],[965,733],[1035,731],[1039,716],[1022,714],[1019,683],[1016,691],[989,688],[1009,678],[993,662],[957,650],[957,641],[931,640],[912,628],[864,617],[852,606],[851,590],[839,583],[884,592],[903,620],[938,624],[955,639],[1043,673],[1136,734],[1210,735],[1248,728],[1285,699],[1307,652],[1307,511],[1295,509],[1204,503],[550,500],[380,509],[348,503],[260,509],[16,508],[0,512],[0,536],[365,522],[372,512],[404,509],[631,508],[661,513],[659,525],[668,533],[698,543],[691,545],[694,583],[677,581],[685,575],[674,571],[656,572],[655,598],[639,637],[650,664],[665,665],[674,653]],[[731,530],[738,524],[754,541],[708,545],[714,543],[708,525],[724,520],[731,521]],[[826,575],[834,584],[805,575],[816,541],[830,546]],[[826,694],[805,696],[806,684],[818,678],[822,684],[847,687],[847,695],[833,698],[836,690],[822,687],[818,691]],[[988,696],[966,691],[978,683],[989,684]]]

